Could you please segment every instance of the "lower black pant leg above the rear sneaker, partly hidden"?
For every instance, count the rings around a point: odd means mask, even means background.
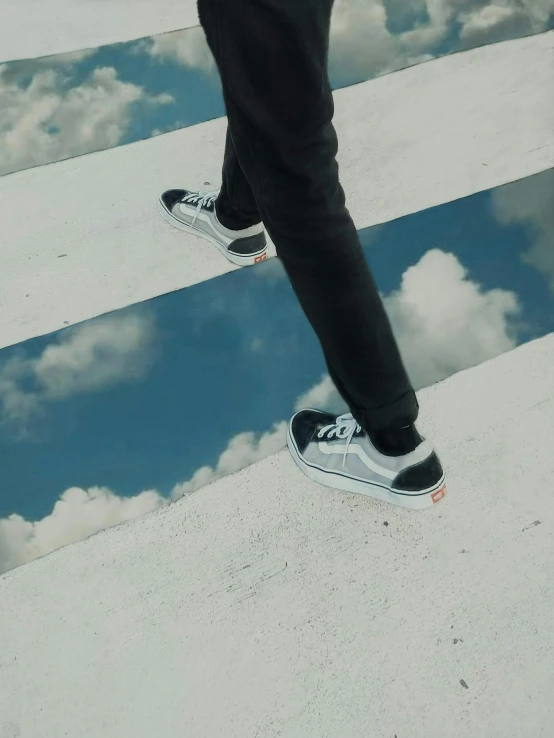
[[[240,166],[229,127],[225,139],[222,185],[216,202],[216,211],[221,223],[232,230],[249,228],[262,220],[252,187]]]

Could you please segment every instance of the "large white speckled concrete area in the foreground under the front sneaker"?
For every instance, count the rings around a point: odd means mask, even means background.
[[[554,334],[420,399],[431,511],[284,451],[0,577],[2,738],[552,735]]]

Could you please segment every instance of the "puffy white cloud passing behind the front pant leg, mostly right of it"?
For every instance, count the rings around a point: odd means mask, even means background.
[[[416,390],[515,348],[513,292],[485,291],[468,279],[456,256],[428,251],[406,270],[400,288],[384,298]],[[299,398],[296,409],[343,412],[328,375]]]

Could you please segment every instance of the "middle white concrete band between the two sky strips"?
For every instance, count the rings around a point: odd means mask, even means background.
[[[356,225],[554,166],[553,76],[554,32],[338,91],[341,177]],[[0,347],[234,269],[156,209],[163,189],[219,183],[225,126],[0,178]]]

